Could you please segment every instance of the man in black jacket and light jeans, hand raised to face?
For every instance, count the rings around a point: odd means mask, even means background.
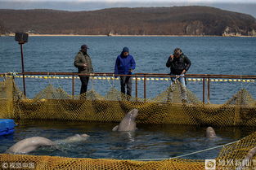
[[[170,68],[171,75],[176,76],[172,77],[172,83],[176,80],[180,81],[182,85],[182,101],[186,101],[186,81],[184,75],[191,67],[191,60],[182,53],[182,49],[176,48],[173,54],[168,57],[166,67]]]

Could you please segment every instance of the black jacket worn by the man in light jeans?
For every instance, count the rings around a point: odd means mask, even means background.
[[[180,75],[184,69],[188,71],[191,67],[191,60],[182,53],[179,58],[174,57],[172,59],[169,57],[166,62],[166,67],[170,68],[171,74]]]

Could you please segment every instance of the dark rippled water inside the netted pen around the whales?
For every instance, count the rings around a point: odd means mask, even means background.
[[[255,131],[255,127],[214,128],[217,138],[204,137],[206,127],[173,124],[137,124],[136,132],[112,132],[116,123],[18,121],[12,135],[0,137],[0,152],[26,137],[41,136],[52,141],[76,133],[90,135],[87,141],[41,147],[30,155],[54,155],[74,158],[167,159],[197,150],[234,142]],[[186,159],[212,159],[220,149],[186,156]]]

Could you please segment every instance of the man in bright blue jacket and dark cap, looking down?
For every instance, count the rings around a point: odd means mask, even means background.
[[[136,63],[132,55],[129,54],[128,47],[124,47],[121,54],[115,61],[115,74],[131,75],[135,69]],[[125,85],[127,85],[127,93],[132,95],[132,78],[131,76],[120,76],[121,92],[125,94]]]

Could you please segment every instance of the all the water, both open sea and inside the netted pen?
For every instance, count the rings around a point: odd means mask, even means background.
[[[182,48],[191,59],[188,73],[256,75],[255,37],[29,37],[24,46],[25,72],[77,72],[74,56],[82,44],[89,46],[95,72],[114,72],[115,59],[124,46],[137,63],[135,72],[168,73],[165,63],[176,47]],[[20,46],[14,37],[0,37],[0,72],[21,72]],[[2,81],[2,80],[1,80]],[[22,89],[21,79],[16,84]],[[70,80],[26,79],[27,96],[34,98],[47,85],[61,87],[71,94]],[[79,94],[80,82],[75,82]],[[105,95],[119,81],[90,81],[89,89]],[[169,81],[147,81],[147,97],[155,98]],[[139,82],[139,97],[143,97],[143,82]],[[187,88],[202,99],[202,83],[188,81]],[[224,103],[245,88],[256,98],[255,83],[211,82],[210,102]],[[133,90],[133,94],[134,90]],[[59,155],[83,158],[159,159],[219,146],[254,132],[255,128],[216,128],[217,139],[204,137],[206,127],[187,127],[172,124],[138,124],[136,133],[114,133],[116,124],[85,122],[22,121],[13,135],[0,137],[0,152],[25,137],[43,136],[52,140],[75,133],[91,135],[87,142],[58,148],[42,148],[33,155]],[[190,159],[210,159],[219,150],[211,150]]]

